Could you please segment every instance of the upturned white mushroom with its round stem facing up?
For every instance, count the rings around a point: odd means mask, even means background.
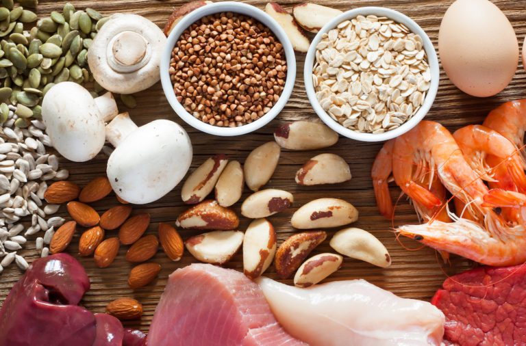
[[[133,94],[159,81],[165,44],[162,30],[148,19],[114,14],[95,36],[88,50],[88,64],[105,90]]]

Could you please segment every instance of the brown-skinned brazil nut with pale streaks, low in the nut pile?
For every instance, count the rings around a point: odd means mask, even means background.
[[[288,237],[277,249],[274,265],[279,278],[288,278],[299,268],[303,260],[320,245],[327,233],[323,230],[301,232]]]

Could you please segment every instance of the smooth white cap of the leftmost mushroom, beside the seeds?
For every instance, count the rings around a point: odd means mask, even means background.
[[[105,141],[104,122],[88,90],[73,82],[53,85],[42,101],[42,120],[51,143],[68,160],[84,162]]]

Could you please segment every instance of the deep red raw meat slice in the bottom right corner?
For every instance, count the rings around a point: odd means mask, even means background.
[[[453,345],[526,345],[526,265],[481,267],[444,281],[432,304]]]

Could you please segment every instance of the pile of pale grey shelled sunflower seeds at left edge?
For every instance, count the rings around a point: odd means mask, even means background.
[[[46,204],[47,182],[68,178],[67,170],[59,170],[58,158],[49,155],[51,146],[42,121],[31,120],[27,128],[14,126],[19,117],[16,107],[0,105],[0,113],[7,109],[6,120],[0,128],[0,273],[15,262],[20,269],[29,267],[17,254],[27,242],[26,237],[45,231],[36,239],[36,249],[42,257],[49,254],[55,228],[64,223],[62,217],[51,217],[58,204]],[[30,225],[22,223],[31,217]]]

